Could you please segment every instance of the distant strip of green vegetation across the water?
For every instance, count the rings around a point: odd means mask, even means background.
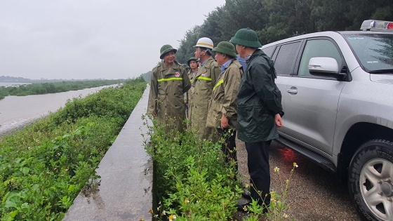
[[[54,83],[32,83],[23,84],[18,87],[0,87],[0,100],[8,95],[26,96],[43,95],[46,93],[59,93],[65,91],[76,91],[84,88],[95,88],[100,86],[124,83],[120,80],[91,80],[91,81],[62,81]]]

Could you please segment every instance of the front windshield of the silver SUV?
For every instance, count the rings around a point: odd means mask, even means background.
[[[373,74],[393,72],[393,34],[342,34],[364,70]]]

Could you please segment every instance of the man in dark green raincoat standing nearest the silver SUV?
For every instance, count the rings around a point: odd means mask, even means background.
[[[237,138],[246,144],[248,173],[253,183],[251,198],[267,210],[270,202],[268,147],[273,139],[279,138],[277,127],[283,126],[281,92],[274,83],[277,78],[274,62],[258,49],[262,45],[255,31],[239,29],[231,43],[236,44],[237,52],[247,62],[237,94]],[[238,206],[244,208],[244,205]]]

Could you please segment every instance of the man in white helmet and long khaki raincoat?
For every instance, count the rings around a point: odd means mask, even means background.
[[[194,87],[194,98],[192,107],[192,130],[200,139],[215,138],[215,128],[206,127],[208,109],[211,103],[213,87],[220,75],[221,69],[212,58],[213,41],[209,38],[201,38],[196,43],[195,58],[199,60],[201,67],[196,73],[192,86]],[[213,139],[215,140],[215,139]]]

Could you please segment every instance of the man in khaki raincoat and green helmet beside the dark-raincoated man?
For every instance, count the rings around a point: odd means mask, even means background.
[[[243,67],[236,60],[237,55],[232,43],[221,41],[213,51],[215,51],[215,60],[221,66],[221,74],[213,87],[212,103],[208,111],[206,126],[214,128],[218,131],[219,138],[224,138],[221,150],[227,156],[225,161],[237,162],[236,100]]]

